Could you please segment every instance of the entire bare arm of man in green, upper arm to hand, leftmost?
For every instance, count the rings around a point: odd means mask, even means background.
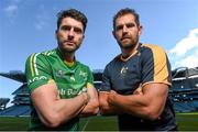
[[[36,88],[31,98],[41,121],[51,128],[78,116],[88,102],[88,95],[85,92],[75,98],[59,99],[58,90],[53,82]]]

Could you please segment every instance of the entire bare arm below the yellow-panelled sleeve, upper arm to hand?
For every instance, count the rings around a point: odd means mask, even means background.
[[[108,102],[129,114],[156,120],[164,109],[167,94],[167,85],[147,84],[142,87],[142,94],[122,96],[111,91]]]

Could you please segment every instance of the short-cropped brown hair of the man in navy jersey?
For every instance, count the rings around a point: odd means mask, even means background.
[[[138,25],[140,25],[140,20],[139,20],[139,14],[136,13],[136,11],[134,9],[130,9],[130,8],[124,8],[121,9],[114,16],[113,16],[113,29],[116,29],[116,20],[122,15],[125,14],[133,14],[135,16],[135,22]]]

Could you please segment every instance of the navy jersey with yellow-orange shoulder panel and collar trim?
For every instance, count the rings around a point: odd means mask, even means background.
[[[121,95],[131,95],[140,84],[161,82],[170,86],[170,80],[166,53],[156,45],[140,44],[136,53],[128,61],[121,59],[119,55],[106,66],[101,90],[113,89]],[[121,131],[167,131],[176,128],[175,112],[168,97],[160,120],[151,121],[127,113],[119,114],[118,119]]]

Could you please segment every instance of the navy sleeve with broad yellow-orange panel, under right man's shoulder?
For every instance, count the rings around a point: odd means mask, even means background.
[[[166,53],[156,45],[150,50],[142,56],[142,85],[162,82],[170,86],[170,65]]]

